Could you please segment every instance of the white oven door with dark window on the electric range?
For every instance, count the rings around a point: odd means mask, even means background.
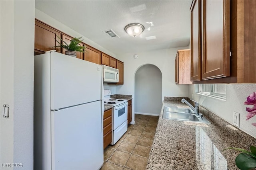
[[[127,120],[128,102],[114,107],[113,130]]]

